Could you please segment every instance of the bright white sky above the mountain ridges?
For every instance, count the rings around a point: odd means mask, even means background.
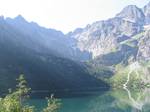
[[[0,15],[22,15],[28,21],[64,33],[114,17],[127,5],[142,8],[150,0],[0,0]]]

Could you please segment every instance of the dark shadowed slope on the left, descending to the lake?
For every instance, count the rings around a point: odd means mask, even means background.
[[[108,87],[103,81],[90,76],[80,63],[52,53],[34,51],[13,43],[0,44],[0,92],[15,86],[16,74],[25,77],[33,90],[61,91],[92,87]],[[14,80],[13,80],[14,79]],[[6,83],[9,82],[9,83]],[[47,93],[48,95],[49,93]]]

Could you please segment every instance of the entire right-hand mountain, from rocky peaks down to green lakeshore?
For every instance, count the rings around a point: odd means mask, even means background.
[[[129,79],[131,87],[148,83],[150,2],[143,8],[129,5],[115,17],[77,28],[68,36],[76,40],[75,47],[92,54],[87,65],[98,79],[122,88],[133,71]]]

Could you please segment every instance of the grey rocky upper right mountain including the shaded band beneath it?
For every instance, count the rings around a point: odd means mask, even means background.
[[[92,59],[96,63],[113,65],[131,60],[139,59],[140,52],[149,53],[149,45],[145,46],[144,51],[140,51],[141,42],[136,40],[148,26],[150,3],[144,8],[129,5],[108,20],[97,21],[85,28],[77,28],[68,33],[70,38],[76,39],[76,47],[81,51],[88,51],[92,54]],[[139,37],[142,38],[142,37]],[[145,37],[143,37],[145,38]],[[133,41],[132,41],[133,40]],[[132,41],[134,46],[125,44]]]

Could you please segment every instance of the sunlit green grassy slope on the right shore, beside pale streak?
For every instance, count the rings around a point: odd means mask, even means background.
[[[139,76],[137,77],[136,71],[133,71],[130,75],[130,81],[128,83],[129,88],[143,88],[150,87],[150,84],[147,84],[148,80],[147,74],[143,70],[148,70],[150,67],[150,62],[139,62],[140,68],[137,69]],[[122,88],[123,84],[127,81],[128,73],[130,71],[129,65],[123,66],[122,64],[116,65],[116,73],[113,77],[110,78],[109,83],[113,88]],[[142,79],[147,79],[144,81]]]

